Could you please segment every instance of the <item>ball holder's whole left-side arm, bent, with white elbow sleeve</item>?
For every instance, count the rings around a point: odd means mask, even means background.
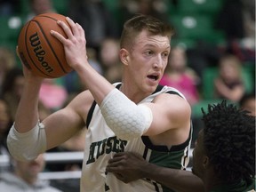
[[[93,99],[90,92],[81,93],[68,107],[46,117],[43,129],[43,126],[38,126],[38,95],[43,79],[31,74],[27,68],[23,71],[25,86],[7,144],[12,156],[30,160],[78,132],[84,126]]]

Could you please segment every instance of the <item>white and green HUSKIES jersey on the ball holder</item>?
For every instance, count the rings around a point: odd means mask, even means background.
[[[117,84],[117,88],[121,84]],[[143,102],[151,102],[156,95],[168,92],[178,94],[184,98],[178,90],[158,86],[156,92],[153,92]],[[185,99],[185,98],[184,98]],[[164,167],[176,169],[185,169],[188,165],[188,150],[191,142],[191,133],[187,141],[179,146],[172,146],[168,149],[166,146],[154,146],[148,137],[142,136],[133,140],[121,140],[108,127],[104,117],[101,115],[100,107],[94,102],[87,117],[87,127],[84,148],[84,162],[81,178],[81,191],[89,192],[150,192],[150,191],[172,191],[164,188],[155,180],[141,179],[125,184],[121,180],[106,172],[108,159],[114,154],[123,151],[133,151],[139,153],[148,162],[158,164]]]

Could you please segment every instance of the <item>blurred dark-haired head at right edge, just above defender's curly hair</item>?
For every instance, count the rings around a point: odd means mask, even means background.
[[[250,115],[256,116],[256,99],[255,91],[245,93],[241,100],[239,100],[240,108],[250,112]]]

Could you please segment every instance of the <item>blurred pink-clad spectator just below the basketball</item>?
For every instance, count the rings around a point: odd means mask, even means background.
[[[55,79],[45,78],[39,92],[39,100],[52,111],[60,109],[68,98],[68,92]]]

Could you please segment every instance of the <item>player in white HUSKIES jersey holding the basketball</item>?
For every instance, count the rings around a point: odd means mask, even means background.
[[[176,169],[188,164],[192,132],[188,101],[178,90],[158,85],[171,50],[172,28],[144,15],[128,20],[119,52],[124,64],[122,83],[110,84],[88,63],[84,29],[67,20],[71,29],[58,21],[67,38],[51,33],[64,45],[68,64],[88,90],[39,122],[38,92],[43,79],[23,68],[26,83],[8,136],[12,156],[34,159],[86,125],[81,191],[165,190],[155,180],[124,184],[105,170],[108,160],[123,151],[137,152],[149,162]]]

